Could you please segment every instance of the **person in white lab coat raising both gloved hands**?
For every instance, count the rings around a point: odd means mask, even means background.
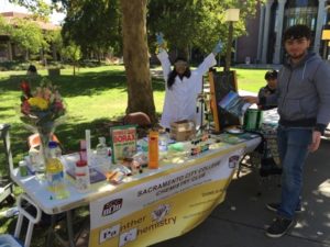
[[[165,49],[163,34],[156,34],[158,44],[157,58],[163,68],[165,83],[165,100],[161,125],[169,130],[173,122],[189,120],[200,125],[200,113],[196,110],[198,93],[202,90],[202,76],[210,67],[217,64],[216,55],[221,52],[222,43],[219,42],[204,61],[195,70],[190,70],[186,58],[177,57],[174,60],[174,68],[170,69],[170,61]]]

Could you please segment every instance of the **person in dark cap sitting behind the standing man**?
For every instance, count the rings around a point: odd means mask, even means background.
[[[267,85],[265,87],[262,87],[258,90],[257,97],[267,97],[271,94],[274,94],[276,92],[276,87],[277,87],[277,71],[275,69],[268,70],[265,74],[265,80]],[[273,108],[277,108],[277,105],[258,105],[260,110],[270,110]]]

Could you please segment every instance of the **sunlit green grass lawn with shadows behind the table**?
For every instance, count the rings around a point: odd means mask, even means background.
[[[41,77],[46,70],[40,70]],[[237,69],[239,89],[257,92],[265,85],[265,70]],[[14,164],[28,154],[26,138],[31,134],[20,122],[19,85],[25,78],[25,71],[0,72],[0,122],[11,124],[11,143]],[[123,66],[102,66],[97,68],[80,68],[76,76],[73,69],[62,69],[61,76],[53,78],[59,86],[59,92],[65,100],[68,113],[65,122],[56,128],[56,135],[66,150],[78,150],[79,139],[84,138],[85,130],[91,130],[92,147],[97,137],[109,136],[107,123],[120,119],[127,108],[127,85]],[[33,86],[37,85],[36,80]],[[33,87],[34,88],[34,87]],[[164,100],[163,79],[153,78],[154,100],[156,111],[162,112]],[[108,137],[109,141],[109,137]],[[0,144],[0,172],[7,172],[2,143]],[[15,190],[20,193],[20,190]],[[7,205],[0,205],[0,211]],[[13,233],[15,220],[0,216],[0,233]],[[34,234],[45,233],[36,231]],[[32,246],[41,246],[42,237]]]

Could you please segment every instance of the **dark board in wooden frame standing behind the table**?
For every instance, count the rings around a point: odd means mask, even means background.
[[[240,125],[239,117],[221,109],[218,103],[230,91],[238,92],[237,74],[231,71],[209,71],[211,110],[215,120],[215,131],[222,132],[228,126]]]

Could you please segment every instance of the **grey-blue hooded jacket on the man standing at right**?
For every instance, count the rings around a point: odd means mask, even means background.
[[[329,64],[315,53],[308,53],[297,65],[285,64],[278,74],[276,93],[262,102],[278,105],[279,124],[323,133],[330,122]]]

